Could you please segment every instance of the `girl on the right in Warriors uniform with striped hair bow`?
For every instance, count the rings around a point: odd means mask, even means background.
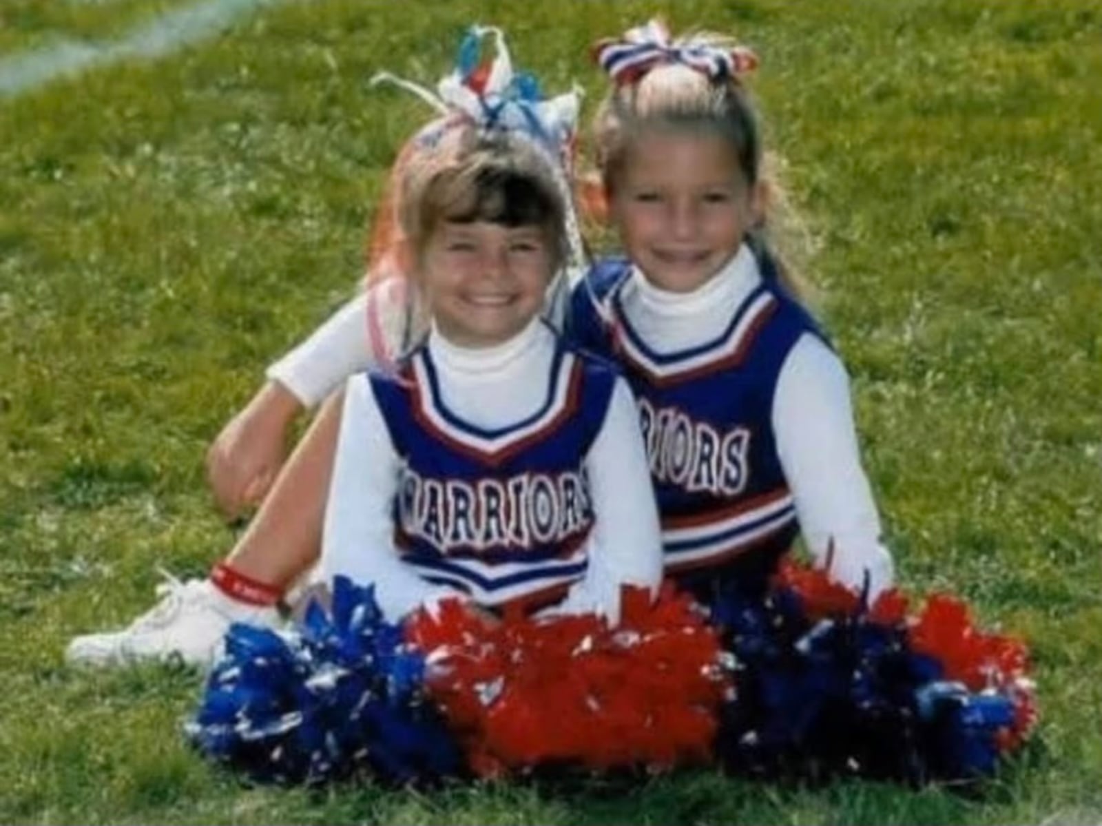
[[[764,590],[797,535],[875,597],[892,560],[861,465],[849,378],[769,237],[776,190],[743,77],[749,51],[606,40],[597,163],[624,257],[595,265],[569,329],[631,383],[667,573],[705,603]]]

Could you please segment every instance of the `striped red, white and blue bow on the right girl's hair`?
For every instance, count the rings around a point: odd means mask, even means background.
[[[594,58],[618,85],[636,83],[656,66],[681,64],[713,82],[738,79],[758,65],[745,46],[725,49],[703,40],[674,42],[658,20],[628,30],[623,39],[607,37],[593,47]]]

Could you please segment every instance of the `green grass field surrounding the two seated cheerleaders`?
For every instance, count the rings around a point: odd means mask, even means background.
[[[188,3],[0,0],[0,823],[1102,822],[1096,2],[207,0],[234,13],[119,51]],[[426,114],[367,78],[434,81],[465,24],[496,23],[588,112],[587,44],[657,11],[761,54],[900,579],[1029,640],[1036,747],[970,795],[709,772],[631,795],[250,790],[179,734],[196,674],[64,667],[73,634],[149,605],[158,565],[198,575],[231,545],[204,450],[349,294]],[[74,44],[96,62],[52,77]]]

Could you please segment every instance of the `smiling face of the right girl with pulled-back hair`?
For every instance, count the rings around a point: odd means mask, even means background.
[[[721,133],[648,129],[626,147],[612,182],[611,217],[648,281],[690,292],[735,255],[760,202],[760,186],[746,181]]]

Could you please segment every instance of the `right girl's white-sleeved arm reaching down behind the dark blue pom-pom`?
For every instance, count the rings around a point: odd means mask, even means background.
[[[869,594],[892,584],[892,556],[861,464],[841,360],[812,335],[781,368],[773,405],[777,452],[796,501],[800,530],[815,560],[840,582]],[[831,550],[833,548],[833,550]]]

